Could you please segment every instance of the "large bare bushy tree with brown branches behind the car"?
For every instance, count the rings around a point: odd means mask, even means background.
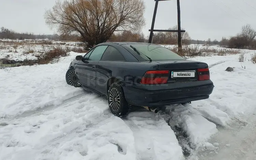
[[[91,48],[114,31],[138,31],[145,25],[143,0],[57,0],[45,12],[46,24],[60,34],[81,36]]]

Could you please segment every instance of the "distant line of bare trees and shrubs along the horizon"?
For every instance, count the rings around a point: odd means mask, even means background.
[[[169,29],[176,29],[174,26]],[[201,44],[201,45],[220,45],[227,48],[240,48],[240,49],[256,49],[256,31],[251,25],[245,25],[242,27],[240,33],[236,36],[231,36],[229,39],[222,37],[221,41],[214,39],[207,39],[206,41],[191,39],[189,34],[182,33],[182,44]],[[54,41],[83,41],[79,36],[74,35],[62,35],[57,34],[33,34],[33,33],[18,33],[7,28],[0,28],[1,39],[50,39]],[[129,33],[129,32],[118,32],[114,33],[108,41],[115,42],[148,42],[148,37],[145,37],[143,33]],[[175,45],[177,44],[177,33],[175,32],[156,32],[153,36],[154,44],[166,44]]]

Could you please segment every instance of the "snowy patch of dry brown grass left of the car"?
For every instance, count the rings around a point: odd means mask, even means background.
[[[38,46],[40,46],[40,48],[42,47],[40,51],[35,50],[35,48],[37,48]],[[83,47],[67,46],[66,43],[53,43],[53,41],[48,41],[48,40],[42,41],[42,40],[35,39],[32,41],[31,40],[4,41],[0,39],[0,49],[17,53],[21,48],[24,49],[23,54],[34,53],[35,57],[37,57],[37,60],[26,59],[24,61],[14,61],[14,60],[8,59],[10,57],[9,55],[9,56],[6,56],[5,59],[0,59],[1,68],[54,63],[54,62],[57,62],[60,57],[68,56],[70,51],[78,52],[78,53],[87,52],[87,50],[85,50]]]

